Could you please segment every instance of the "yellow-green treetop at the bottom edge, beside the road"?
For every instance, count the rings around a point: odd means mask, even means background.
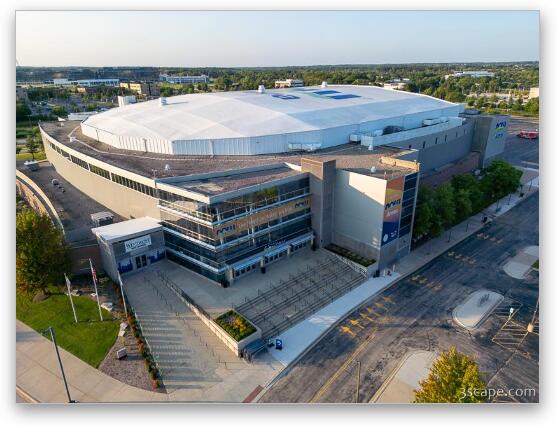
[[[415,391],[418,403],[477,403],[487,400],[478,364],[451,347],[433,363],[427,379]]]

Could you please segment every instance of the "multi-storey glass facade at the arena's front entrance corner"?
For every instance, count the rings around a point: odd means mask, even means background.
[[[220,271],[229,265],[310,232],[308,194],[309,179],[302,178],[202,209],[197,203],[196,211],[209,213],[211,223],[201,223],[195,215],[162,204],[166,246],[175,252],[169,258],[181,258],[179,263],[187,262],[188,268],[193,264],[197,272],[206,265],[204,275],[215,275],[217,279],[211,279],[220,281]]]

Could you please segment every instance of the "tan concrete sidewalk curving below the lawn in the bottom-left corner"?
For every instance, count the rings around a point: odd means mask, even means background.
[[[163,402],[164,393],[126,385],[76,356],[60,350],[72,399],[77,402]],[[52,342],[16,320],[16,386],[28,399],[67,403],[62,374]]]

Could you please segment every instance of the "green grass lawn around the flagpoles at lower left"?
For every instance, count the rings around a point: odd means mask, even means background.
[[[70,300],[65,294],[53,294],[33,303],[26,295],[16,295],[16,317],[36,331],[54,327],[58,344],[93,367],[98,367],[118,336],[119,321],[103,309],[99,320],[97,302],[88,296],[74,297],[78,324],[73,319]]]

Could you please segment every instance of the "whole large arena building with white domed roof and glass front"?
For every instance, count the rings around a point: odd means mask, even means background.
[[[505,129],[432,97],[325,83],[41,124],[58,173],[134,220],[93,229],[107,273],[166,256],[224,286],[331,243],[389,267],[410,250],[420,175],[471,153],[481,167]]]

